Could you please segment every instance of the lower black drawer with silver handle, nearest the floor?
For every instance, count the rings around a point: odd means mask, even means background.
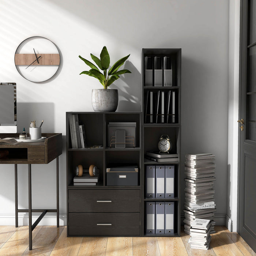
[[[139,236],[140,214],[69,213],[69,236]]]

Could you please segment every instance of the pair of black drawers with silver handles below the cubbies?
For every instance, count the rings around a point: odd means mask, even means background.
[[[69,189],[69,236],[139,236],[139,189]]]

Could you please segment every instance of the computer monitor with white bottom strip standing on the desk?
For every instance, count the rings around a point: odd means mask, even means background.
[[[0,133],[16,132],[16,83],[0,83]]]

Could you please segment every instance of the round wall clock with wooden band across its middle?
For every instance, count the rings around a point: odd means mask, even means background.
[[[16,49],[14,62],[23,78],[31,82],[45,82],[59,69],[60,53],[49,39],[29,37]]]

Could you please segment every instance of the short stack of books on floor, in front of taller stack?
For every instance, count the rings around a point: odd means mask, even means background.
[[[211,241],[211,227],[210,219],[195,219],[190,228],[191,237],[188,240],[190,248],[208,250]]]

